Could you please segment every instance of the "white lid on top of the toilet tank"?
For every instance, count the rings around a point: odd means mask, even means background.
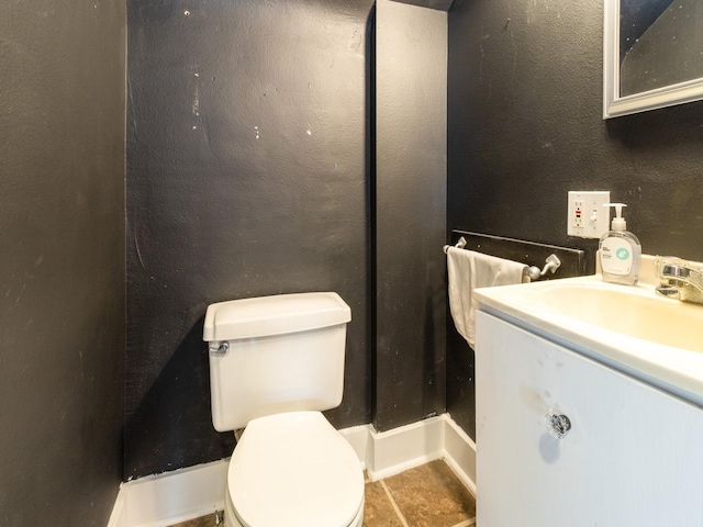
[[[337,293],[292,293],[231,300],[208,306],[203,340],[281,335],[345,324],[352,310]]]

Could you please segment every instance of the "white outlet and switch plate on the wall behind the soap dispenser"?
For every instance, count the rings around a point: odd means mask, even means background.
[[[580,238],[600,238],[610,229],[611,192],[569,191],[567,234]]]

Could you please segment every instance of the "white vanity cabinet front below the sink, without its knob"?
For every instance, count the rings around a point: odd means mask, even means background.
[[[700,408],[483,312],[476,366],[479,527],[703,526]]]

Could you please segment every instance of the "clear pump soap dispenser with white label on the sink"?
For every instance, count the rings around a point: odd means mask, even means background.
[[[626,229],[623,206],[627,205],[625,203],[605,203],[603,206],[615,208],[615,217],[611,229],[603,235],[599,244],[603,281],[635,285],[639,278],[641,245],[637,236]]]

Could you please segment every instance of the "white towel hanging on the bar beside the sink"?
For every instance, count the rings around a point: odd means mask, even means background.
[[[473,290],[529,281],[529,278],[523,274],[526,267],[517,261],[473,250],[448,248],[449,310],[457,330],[466,338],[471,348],[475,345],[476,312],[479,309]]]

